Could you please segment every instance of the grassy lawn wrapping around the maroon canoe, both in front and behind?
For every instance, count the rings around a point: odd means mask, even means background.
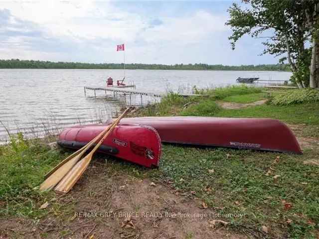
[[[268,102],[242,109],[223,109],[218,104],[252,103],[263,99],[260,91],[230,87],[201,92],[209,95],[206,99],[170,95],[168,105],[164,101],[163,106],[150,106],[141,115],[273,118],[295,125],[299,136],[319,138],[318,102],[289,106]],[[164,114],[161,107],[165,108]],[[303,155],[165,145],[160,172],[155,177],[168,178],[182,191],[196,192],[220,213],[244,213],[244,218],[232,219],[235,229],[260,230],[266,226],[273,236],[316,238],[319,167],[304,164],[316,158],[316,143],[304,149]]]

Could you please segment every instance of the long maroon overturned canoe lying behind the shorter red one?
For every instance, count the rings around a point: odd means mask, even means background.
[[[121,123],[152,126],[169,143],[302,153],[292,131],[277,119],[141,117]]]

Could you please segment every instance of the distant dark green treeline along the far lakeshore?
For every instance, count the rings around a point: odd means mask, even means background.
[[[81,63],[81,62],[51,62],[33,60],[0,60],[0,68],[8,69],[123,69],[124,64],[115,63]],[[208,64],[126,64],[126,69],[145,69],[145,70],[223,70],[223,71],[290,71],[288,64],[274,65],[242,65],[224,66]]]

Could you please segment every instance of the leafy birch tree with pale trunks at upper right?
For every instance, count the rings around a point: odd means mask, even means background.
[[[281,56],[280,63],[288,61],[293,72],[292,80],[300,88],[319,87],[319,0],[243,0],[249,8],[237,3],[228,9],[232,35],[232,48],[245,34],[265,38],[261,54]],[[271,36],[265,36],[271,34]],[[312,48],[305,43],[312,42]],[[312,51],[311,60],[309,52]],[[286,54],[286,56],[283,56]],[[310,67],[311,66],[311,67]]]

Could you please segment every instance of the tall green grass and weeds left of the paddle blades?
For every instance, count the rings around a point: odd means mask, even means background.
[[[0,215],[37,215],[34,202],[42,194],[33,188],[60,159],[58,151],[38,141],[26,141],[22,134],[0,146],[0,201],[7,202]]]

